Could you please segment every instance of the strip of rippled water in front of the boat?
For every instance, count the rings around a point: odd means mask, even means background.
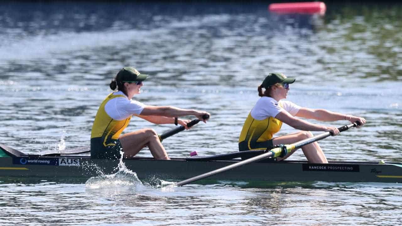
[[[42,182],[1,186],[2,225],[399,225],[400,186],[269,189],[189,185],[89,190]],[[12,205],[18,203],[18,205]],[[4,212],[5,210],[5,212]],[[8,224],[12,222],[12,224]]]

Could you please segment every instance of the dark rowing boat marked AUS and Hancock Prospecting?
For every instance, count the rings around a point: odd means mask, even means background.
[[[248,151],[256,152],[256,151]],[[139,179],[158,178],[178,181],[240,162],[242,152],[205,157],[154,158],[135,157],[123,160]],[[71,153],[24,154],[0,144],[0,177],[39,177],[88,179],[118,171],[119,160],[92,159]],[[210,179],[225,181],[328,181],[402,183],[400,162],[329,162],[270,158],[234,168]]]

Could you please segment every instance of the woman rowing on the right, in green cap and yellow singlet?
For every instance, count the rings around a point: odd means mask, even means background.
[[[279,144],[292,144],[312,137],[313,134],[310,131],[328,131],[333,136],[339,134],[339,130],[336,127],[309,123],[295,116],[320,121],[359,121],[360,125],[366,123],[363,117],[345,115],[324,109],[310,109],[300,107],[290,101],[281,101],[287,96],[289,84],[292,84],[295,80],[295,78],[287,78],[281,73],[271,73],[258,86],[258,96],[261,98],[251,109],[244,122],[239,138],[240,151],[265,150]],[[265,89],[264,92],[263,88]],[[282,123],[303,131],[274,138],[274,134],[281,129]],[[307,160],[311,163],[328,163],[317,142],[307,144],[301,150],[303,150]],[[283,158],[277,158],[277,160],[283,160],[294,152],[295,150],[287,153]]]

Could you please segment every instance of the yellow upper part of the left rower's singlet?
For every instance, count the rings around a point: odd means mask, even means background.
[[[131,116],[123,120],[112,119],[105,111],[105,105],[111,99],[117,97],[125,97],[123,95],[113,95],[113,92],[109,94],[100,105],[98,112],[96,113],[94,125],[91,131],[92,138],[102,138],[103,146],[115,146],[115,140],[117,140],[123,130],[127,127],[131,120]]]

